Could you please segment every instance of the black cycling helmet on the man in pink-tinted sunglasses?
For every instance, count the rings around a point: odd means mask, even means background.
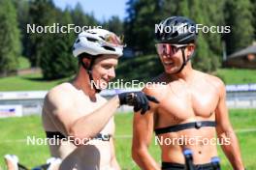
[[[157,43],[187,44],[197,39],[196,24],[187,17],[168,17],[159,26],[161,30],[157,29],[155,33]]]

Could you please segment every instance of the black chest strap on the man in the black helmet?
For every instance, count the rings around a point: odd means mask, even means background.
[[[156,134],[162,134],[167,132],[176,132],[186,128],[201,128],[201,127],[216,127],[216,123],[214,121],[199,121],[199,122],[192,122],[186,124],[179,124],[176,126],[171,126],[167,128],[156,128]]]

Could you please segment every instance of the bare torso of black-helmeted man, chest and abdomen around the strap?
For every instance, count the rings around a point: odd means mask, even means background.
[[[154,120],[155,129],[198,121],[215,121],[214,110],[219,95],[214,79],[199,71],[195,75],[188,82],[175,80],[169,81],[167,85],[159,85],[151,94],[160,101]],[[166,81],[166,78],[160,75],[158,81]],[[161,143],[162,161],[177,163],[184,162],[184,148],[192,150],[196,164],[209,162],[210,157],[217,155],[214,138],[213,127],[187,128],[157,135],[157,141]]]

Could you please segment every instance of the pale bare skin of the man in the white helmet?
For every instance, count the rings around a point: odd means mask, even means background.
[[[90,60],[83,59],[83,62],[88,64]],[[97,58],[92,69],[94,81],[104,83],[111,81],[115,76],[114,68],[116,65],[117,57],[115,55],[104,55]],[[46,131],[60,131],[65,136],[77,136],[79,139],[92,138],[95,136],[92,131],[97,131],[96,128],[99,128],[97,126],[105,125],[105,121],[101,119],[108,120],[107,114],[114,112],[117,108],[118,99],[113,98],[111,102],[107,105],[107,100],[96,93],[90,85],[87,71],[80,66],[74,81],[62,83],[49,91],[43,107],[44,128]],[[96,112],[101,110],[100,108],[102,108],[102,113],[100,118],[97,118],[97,122],[88,121],[85,123],[83,118],[97,114]],[[103,118],[105,116],[106,118]],[[96,128],[88,126],[90,123]],[[101,128],[101,133],[113,136],[113,118],[106,123],[107,125]],[[70,129],[76,129],[76,132]],[[85,133],[86,130],[87,133],[90,133],[89,135]],[[60,145],[49,146],[49,149],[51,156],[63,159],[60,169],[120,169],[114,155],[112,138],[110,141],[93,139],[88,141],[86,145],[80,146],[64,141]]]

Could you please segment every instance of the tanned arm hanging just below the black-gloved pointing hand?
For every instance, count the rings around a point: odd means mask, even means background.
[[[148,152],[154,128],[155,104],[151,103],[150,107],[144,115],[140,112],[134,115],[132,157],[141,169],[160,170],[158,163]]]

